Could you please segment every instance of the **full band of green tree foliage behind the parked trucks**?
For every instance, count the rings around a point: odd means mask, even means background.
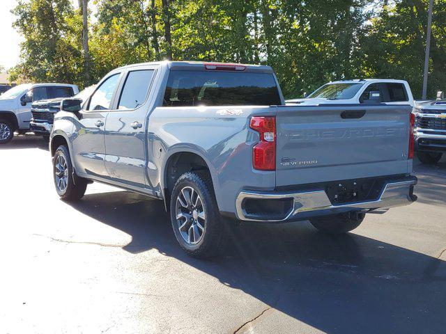
[[[70,0],[20,0],[13,76],[98,81],[166,58],[271,65],[287,97],[336,79],[406,79],[419,97],[429,0],[95,0],[86,75],[82,17]],[[446,0],[433,12],[429,95],[446,89]]]

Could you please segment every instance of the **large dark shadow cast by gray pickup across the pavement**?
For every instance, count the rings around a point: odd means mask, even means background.
[[[446,262],[436,257],[354,233],[327,236],[301,222],[243,223],[231,232],[224,257],[196,260],[180,250],[160,200],[120,191],[86,195],[73,207],[130,234],[123,247],[130,253],[154,248],[327,333],[446,328]],[[271,316],[246,320],[255,329]]]

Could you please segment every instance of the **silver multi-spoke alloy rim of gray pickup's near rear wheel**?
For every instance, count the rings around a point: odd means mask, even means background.
[[[206,214],[199,193],[185,186],[176,198],[176,222],[187,244],[197,244],[206,229]]]

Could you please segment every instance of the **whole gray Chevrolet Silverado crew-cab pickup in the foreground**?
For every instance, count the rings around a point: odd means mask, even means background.
[[[61,109],[49,143],[59,196],[98,181],[163,200],[197,257],[220,253],[233,221],[343,233],[416,200],[412,106],[285,106],[268,66],[130,65]]]

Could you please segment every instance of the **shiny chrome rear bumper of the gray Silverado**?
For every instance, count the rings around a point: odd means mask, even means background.
[[[318,212],[324,214],[335,214],[337,212],[346,212],[352,209],[360,212],[384,213],[390,207],[399,207],[409,205],[415,199],[413,198],[410,187],[417,184],[417,180],[408,180],[402,182],[389,182],[385,185],[378,200],[369,202],[354,202],[345,205],[332,205],[325,191],[303,191],[299,193],[259,193],[256,191],[242,191],[236,200],[237,216],[243,221],[288,221],[299,220],[306,216],[318,216]],[[260,219],[249,218],[243,209],[243,200],[246,198],[259,199],[282,199],[293,198],[293,206],[284,215],[282,219]],[[307,215],[307,213],[312,213]]]

